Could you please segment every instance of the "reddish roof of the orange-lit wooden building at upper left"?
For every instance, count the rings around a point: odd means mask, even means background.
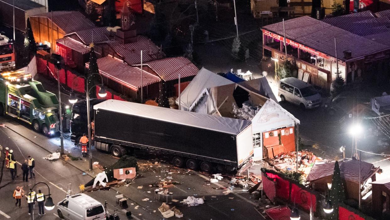
[[[52,16],[53,15],[53,16]],[[62,29],[65,34],[70,34],[78,30],[88,30],[95,28],[94,23],[78,11],[53,11],[43,14],[35,14],[30,17],[48,18],[50,21]]]

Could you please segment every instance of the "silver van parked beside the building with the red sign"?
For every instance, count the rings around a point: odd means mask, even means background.
[[[281,79],[278,95],[282,102],[299,105],[302,109],[311,109],[321,105],[321,95],[314,87],[294,77]]]

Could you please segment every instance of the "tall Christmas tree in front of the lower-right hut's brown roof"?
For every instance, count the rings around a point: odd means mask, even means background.
[[[329,193],[329,200],[333,205],[333,212],[327,215],[327,219],[339,219],[339,204],[345,200],[344,185],[342,183],[339,162],[335,162],[335,169],[333,170],[332,188]]]

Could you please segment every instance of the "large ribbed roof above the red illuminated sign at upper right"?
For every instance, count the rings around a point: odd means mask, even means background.
[[[347,21],[344,22],[346,23]],[[389,46],[353,34],[347,30],[316,20],[309,16],[294,18],[287,20],[284,23],[287,39],[291,39],[332,57],[336,57],[334,40],[334,38],[336,38],[337,54],[339,54],[338,59],[342,61],[351,61],[366,55],[390,50]],[[262,29],[280,36],[284,35],[283,22],[266,25],[262,27]],[[342,56],[343,51],[346,50],[351,50],[352,57],[344,58]]]

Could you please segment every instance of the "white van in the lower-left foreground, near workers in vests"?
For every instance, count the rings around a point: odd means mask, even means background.
[[[106,219],[106,212],[103,205],[84,193],[69,196],[58,202],[57,213],[60,218],[69,220]]]

